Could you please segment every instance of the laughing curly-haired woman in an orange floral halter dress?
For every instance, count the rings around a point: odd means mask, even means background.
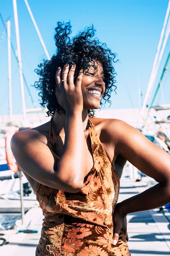
[[[170,202],[170,155],[123,121],[94,117],[115,86],[116,56],[93,27],[70,33],[58,22],[57,53],[37,70],[51,121],[11,141],[44,214],[36,256],[129,256],[126,215]],[[158,184],[116,204],[126,160]]]

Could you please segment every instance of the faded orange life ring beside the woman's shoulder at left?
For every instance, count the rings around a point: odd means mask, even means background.
[[[19,128],[15,126],[10,126],[5,136],[5,154],[7,159],[7,165],[8,165],[8,168],[14,173],[17,173],[18,166],[17,166],[17,163],[15,162],[15,159],[13,157],[13,153],[11,150],[11,138],[15,132],[18,132],[18,130]]]

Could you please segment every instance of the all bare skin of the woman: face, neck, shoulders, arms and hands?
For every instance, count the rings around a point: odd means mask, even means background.
[[[74,65],[69,67],[66,64],[63,70],[58,68],[56,71],[55,95],[65,110],[55,112],[53,119],[60,157],[48,147],[50,122],[17,132],[12,138],[11,148],[17,164],[35,192],[38,183],[41,183],[76,193],[81,190],[85,175],[92,169],[92,148],[86,129],[87,110],[99,108],[105,92],[102,65],[97,61],[95,64],[96,69],[91,67],[84,73],[80,71],[75,84]],[[116,244],[120,229],[128,239],[128,213],[155,209],[170,202],[170,155],[123,121],[96,117],[90,120],[119,177],[128,160],[158,182],[153,188],[117,204],[113,216],[113,243]]]

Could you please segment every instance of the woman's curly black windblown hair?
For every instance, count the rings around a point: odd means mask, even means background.
[[[106,103],[110,101],[111,92],[116,90],[116,72],[113,67],[115,63],[116,54],[112,53],[107,48],[105,43],[100,43],[97,38],[94,38],[95,29],[86,27],[83,31],[79,32],[72,40],[69,35],[72,33],[70,22],[57,22],[55,28],[56,34],[55,44],[57,47],[56,54],[48,61],[40,63],[35,72],[40,76],[39,81],[35,82],[34,86],[39,92],[41,97],[41,106],[47,107],[47,115],[53,116],[55,111],[60,112],[63,110],[55,97],[55,74],[58,67],[63,68],[63,65],[68,63],[70,66],[76,64],[74,75],[74,82],[80,70],[87,70],[90,65],[89,62],[99,61],[102,64],[104,77],[105,77],[105,93],[102,100]],[[100,105],[103,102],[100,102]],[[88,110],[89,116],[94,116],[94,110]]]

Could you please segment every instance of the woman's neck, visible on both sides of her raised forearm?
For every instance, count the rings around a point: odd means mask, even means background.
[[[65,133],[65,118],[66,114],[65,113],[57,113],[55,112],[54,118],[53,118],[53,124],[54,124],[54,129],[56,134],[61,134]],[[82,112],[82,122],[83,122],[83,128],[86,130],[87,128],[87,122],[89,119],[88,112]]]

